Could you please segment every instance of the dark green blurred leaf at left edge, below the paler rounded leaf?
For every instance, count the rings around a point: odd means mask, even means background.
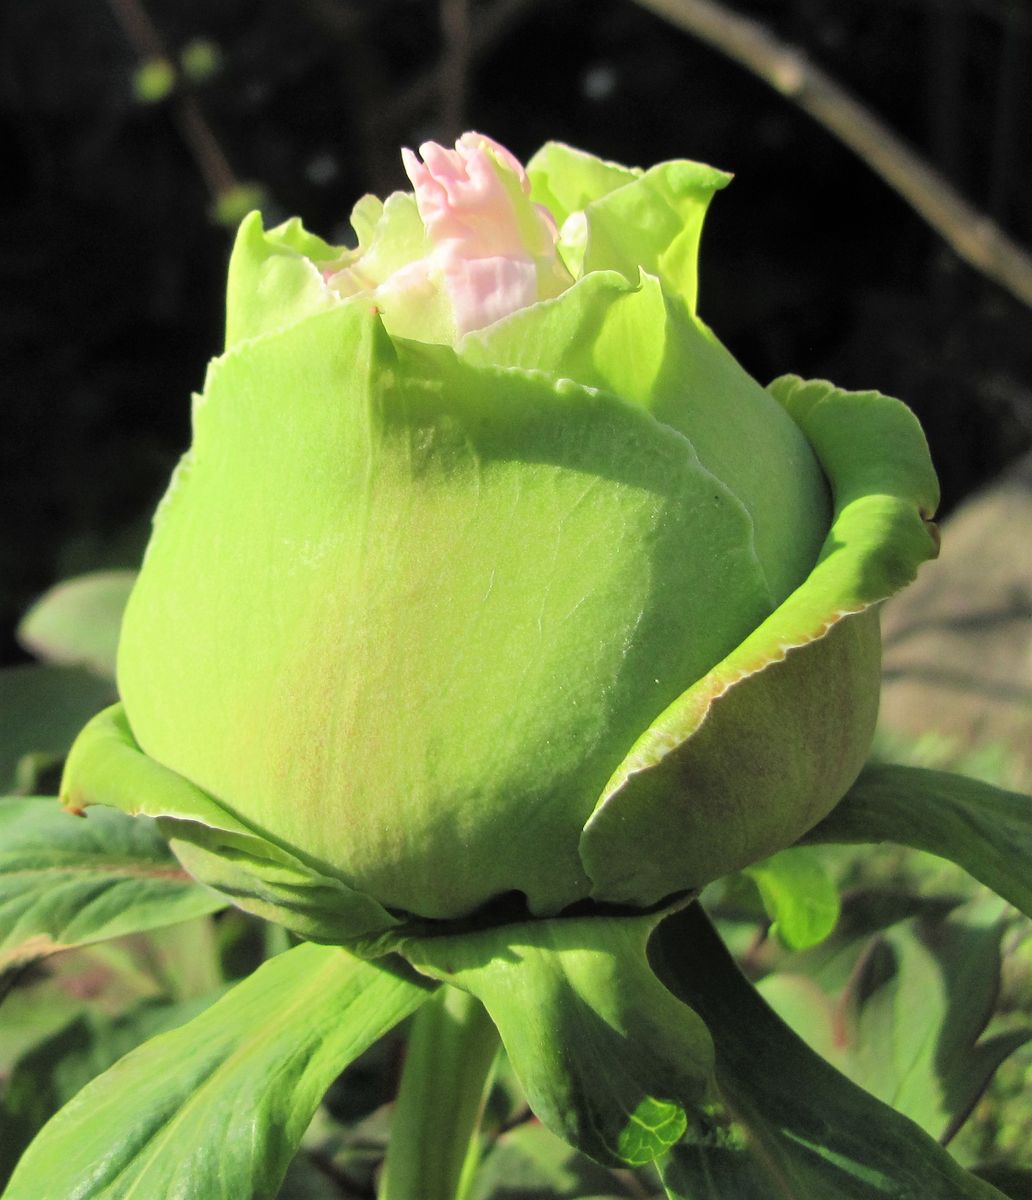
[[[83,667],[28,664],[0,671],[0,793],[35,786],[85,722],[115,698],[114,684]]]

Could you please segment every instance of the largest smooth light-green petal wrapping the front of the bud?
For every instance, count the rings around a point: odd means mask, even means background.
[[[582,899],[612,770],[769,611],[742,505],[641,409],[361,305],[194,422],[122,631],[143,750],[388,907]]]

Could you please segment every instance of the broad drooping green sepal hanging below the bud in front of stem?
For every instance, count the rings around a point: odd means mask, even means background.
[[[550,1129],[600,1163],[638,1165],[708,1120],[709,1033],[647,954],[668,912],[558,917],[396,948],[484,1004]]]

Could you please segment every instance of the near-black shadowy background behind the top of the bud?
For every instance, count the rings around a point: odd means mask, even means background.
[[[736,4],[1032,242],[1028,0]],[[702,314],[763,380],[910,403],[946,510],[1032,443],[1028,308],[788,101],[632,0],[469,0],[463,88],[442,34],[463,7],[0,0],[0,661],[50,582],[139,556],[220,348],[214,191],[233,208],[234,182],[257,185],[268,218],[341,239],[359,194],[407,186],[400,145],[463,127],[522,157],[559,138],[733,170]],[[158,50],[179,82],[145,102]]]

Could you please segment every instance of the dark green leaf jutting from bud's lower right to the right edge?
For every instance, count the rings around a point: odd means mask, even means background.
[[[1032,917],[1032,798],[1018,792],[942,770],[870,766],[805,840],[929,851]]]

